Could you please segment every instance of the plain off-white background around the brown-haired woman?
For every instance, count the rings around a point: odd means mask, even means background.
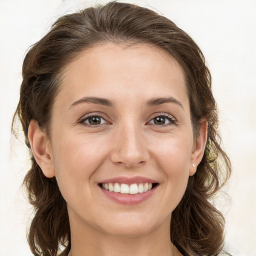
[[[100,3],[105,0],[97,1]],[[213,77],[223,147],[233,174],[220,200],[226,248],[256,255],[256,0],[127,0],[152,6],[173,20],[202,49]],[[64,13],[95,0],[0,0],[0,256],[31,255],[25,237],[30,206],[21,183],[29,166],[10,125],[26,49]]]

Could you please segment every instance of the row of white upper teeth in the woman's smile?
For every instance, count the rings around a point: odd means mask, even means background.
[[[122,193],[122,194],[137,194],[149,191],[152,188],[152,183],[136,183],[125,184],[125,183],[103,183],[102,188],[109,190],[110,192]]]

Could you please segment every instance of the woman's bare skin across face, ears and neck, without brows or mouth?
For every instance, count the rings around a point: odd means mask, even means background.
[[[112,106],[78,102],[106,98]],[[152,98],[172,102],[148,105]],[[74,103],[76,102],[76,103]],[[89,126],[88,114],[101,124]],[[164,124],[154,118],[163,117]],[[52,107],[50,136],[31,121],[28,137],[47,177],[67,202],[72,256],[181,255],[170,242],[171,212],[196,171],[206,141],[196,139],[182,68],[146,44],[105,43],[82,51],[64,70]],[[143,176],[158,186],[147,200],[124,205],[100,190],[103,179]]]

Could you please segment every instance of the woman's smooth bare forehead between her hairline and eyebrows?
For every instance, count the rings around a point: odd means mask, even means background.
[[[174,96],[187,101],[184,80],[177,60],[158,47],[104,43],[81,51],[66,65],[56,99],[71,104],[82,96],[141,101]]]

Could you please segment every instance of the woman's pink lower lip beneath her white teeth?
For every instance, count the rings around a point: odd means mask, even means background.
[[[120,203],[120,204],[127,204],[127,205],[133,205],[141,203],[145,200],[147,200],[155,191],[155,188],[157,186],[153,187],[149,191],[143,192],[143,193],[137,193],[137,194],[122,194],[122,193],[116,193],[111,192],[109,190],[106,190],[104,188],[101,188],[101,191],[111,200]]]

